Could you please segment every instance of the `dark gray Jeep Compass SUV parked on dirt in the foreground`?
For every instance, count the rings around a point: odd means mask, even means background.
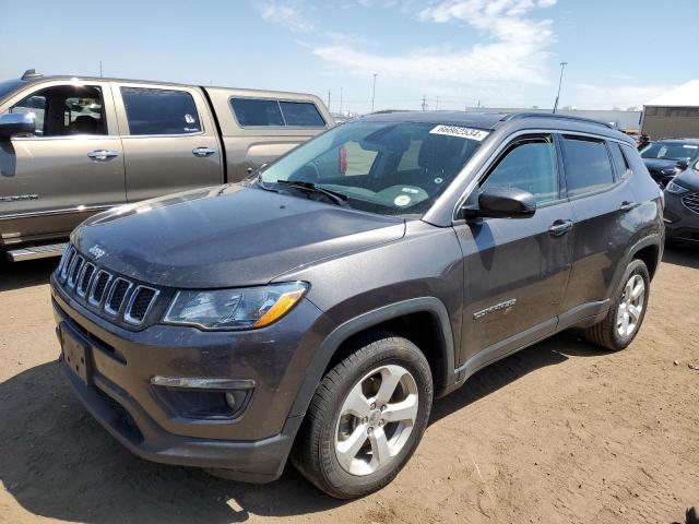
[[[663,235],[660,189],[604,124],[369,116],[85,222],[51,277],[60,365],[144,458],[270,481],[291,457],[358,497],[488,364],[570,327],[628,346]]]

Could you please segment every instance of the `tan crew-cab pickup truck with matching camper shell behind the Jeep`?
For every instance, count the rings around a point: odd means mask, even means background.
[[[0,82],[0,252],[60,254],[91,214],[241,180],[332,126],[313,95],[29,70]]]

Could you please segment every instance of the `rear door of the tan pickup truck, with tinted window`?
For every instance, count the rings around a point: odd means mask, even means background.
[[[112,85],[129,202],[222,183],[216,129],[199,90]]]

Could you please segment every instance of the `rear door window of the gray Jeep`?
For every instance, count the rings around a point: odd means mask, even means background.
[[[614,183],[604,141],[564,136],[562,142],[569,196],[597,191]]]

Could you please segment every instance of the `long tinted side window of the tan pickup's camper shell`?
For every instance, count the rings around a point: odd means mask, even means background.
[[[238,123],[246,127],[322,128],[325,121],[310,102],[283,102],[260,98],[232,98]]]

